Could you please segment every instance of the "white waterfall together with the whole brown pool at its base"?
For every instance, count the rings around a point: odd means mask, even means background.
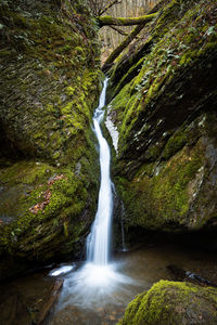
[[[113,183],[110,177],[110,147],[103,138],[100,123],[103,119],[106,83],[93,115],[94,132],[99,142],[101,185],[98,209],[87,238],[87,261],[62,264],[55,270],[41,271],[14,280],[0,287],[0,324],[29,324],[29,312],[41,311],[51,292],[53,278],[64,280],[60,301],[49,325],[114,325],[123,317],[126,306],[133,297],[150,289],[159,280],[171,280],[167,265],[176,264],[217,282],[217,257],[176,242],[152,238],[132,249],[125,249],[111,259],[111,227],[113,213]],[[124,206],[123,206],[124,222]],[[201,243],[201,238],[200,238]],[[203,245],[202,245],[203,246]],[[49,275],[48,275],[49,273]],[[52,275],[52,276],[50,276]],[[20,297],[17,299],[17,297]],[[22,298],[22,299],[21,299]],[[21,301],[20,301],[21,300]],[[24,302],[22,302],[24,301]],[[26,308],[26,301],[29,309]]]

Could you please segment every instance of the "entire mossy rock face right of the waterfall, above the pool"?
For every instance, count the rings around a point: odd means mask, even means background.
[[[117,60],[110,118],[128,226],[181,231],[217,222],[217,3],[162,1]]]

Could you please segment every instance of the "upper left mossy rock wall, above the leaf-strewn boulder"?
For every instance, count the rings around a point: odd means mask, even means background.
[[[67,162],[73,139],[85,140],[99,94],[99,44],[78,2],[0,2],[0,139],[9,156]]]

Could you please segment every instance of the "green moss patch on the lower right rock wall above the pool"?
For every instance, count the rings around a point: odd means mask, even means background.
[[[156,157],[155,152],[152,157]],[[189,183],[203,164],[203,145],[199,142],[191,151],[184,147],[158,169],[154,162],[143,165],[130,183],[118,179],[117,188],[130,216],[128,225],[166,230],[169,223],[180,227],[188,224],[193,195]]]

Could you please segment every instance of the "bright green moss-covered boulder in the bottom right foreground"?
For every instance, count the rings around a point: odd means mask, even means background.
[[[132,300],[118,325],[217,324],[217,289],[159,281]]]

